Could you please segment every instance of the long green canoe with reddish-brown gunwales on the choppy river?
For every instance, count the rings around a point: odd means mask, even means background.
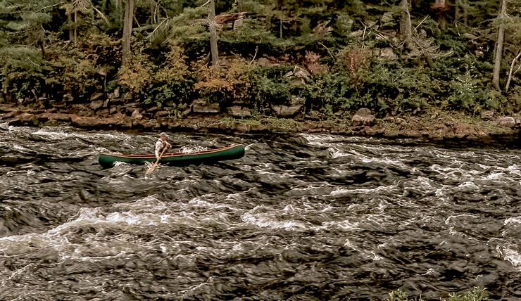
[[[165,153],[159,162],[168,165],[190,165],[239,159],[242,158],[242,156],[244,156],[244,146],[241,144],[232,144],[224,148],[215,148],[196,153]],[[143,165],[146,162],[156,162],[156,156],[153,154],[117,155],[102,153],[98,157],[98,162],[105,168],[112,167],[115,162]]]

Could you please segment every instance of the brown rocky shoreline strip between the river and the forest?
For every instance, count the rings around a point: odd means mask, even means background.
[[[101,105],[103,106],[103,105]],[[433,112],[420,116],[402,115],[377,118],[370,110],[362,108],[354,115],[342,115],[334,119],[297,115],[296,117],[251,116],[249,110],[235,108],[221,113],[211,106],[192,105],[182,117],[137,107],[125,106],[114,112],[96,112],[93,106],[80,105],[63,108],[28,108],[0,105],[0,122],[12,126],[70,125],[84,129],[139,130],[144,132],[199,132],[220,134],[270,134],[270,133],[327,133],[345,136],[368,136],[385,139],[414,139],[441,144],[473,146],[521,145],[521,119],[519,115],[494,116],[484,113],[481,117],[469,117],[462,113]],[[95,106],[94,106],[95,108]],[[277,108],[291,111],[291,108]]]

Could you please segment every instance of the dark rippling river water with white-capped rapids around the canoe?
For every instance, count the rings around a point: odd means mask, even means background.
[[[96,154],[152,136],[3,126],[0,300],[521,298],[520,150],[171,137],[246,156],[145,179]]]

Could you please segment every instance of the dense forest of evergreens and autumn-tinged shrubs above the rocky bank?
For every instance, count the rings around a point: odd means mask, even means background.
[[[107,116],[508,115],[521,1],[0,0],[0,62],[0,102]]]

